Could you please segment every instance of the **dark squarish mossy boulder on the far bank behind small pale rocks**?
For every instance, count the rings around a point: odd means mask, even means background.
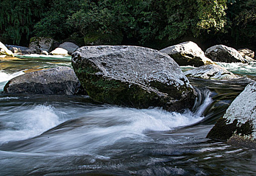
[[[41,51],[50,52],[53,45],[53,39],[49,37],[32,37],[29,48],[34,48],[40,54]]]

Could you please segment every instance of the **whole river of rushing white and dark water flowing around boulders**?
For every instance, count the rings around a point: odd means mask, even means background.
[[[256,76],[255,62],[219,64]],[[71,66],[71,58],[1,59],[0,90],[15,76],[59,65]],[[0,175],[256,175],[255,150],[206,138],[250,81],[192,78],[199,96],[194,110],[182,113],[2,93]]]

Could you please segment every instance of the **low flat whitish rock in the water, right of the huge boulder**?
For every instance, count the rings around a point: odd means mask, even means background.
[[[186,76],[204,79],[234,79],[238,76],[219,65],[203,65],[195,69],[185,71]]]

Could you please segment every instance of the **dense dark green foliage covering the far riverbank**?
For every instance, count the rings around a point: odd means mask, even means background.
[[[160,49],[186,39],[253,46],[256,38],[256,0],[3,0],[0,8],[0,36],[14,43],[48,36]]]

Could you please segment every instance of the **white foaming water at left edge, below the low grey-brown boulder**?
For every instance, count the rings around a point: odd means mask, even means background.
[[[0,133],[0,143],[34,137],[61,123],[51,106],[19,107],[12,111],[1,113],[4,130]]]

